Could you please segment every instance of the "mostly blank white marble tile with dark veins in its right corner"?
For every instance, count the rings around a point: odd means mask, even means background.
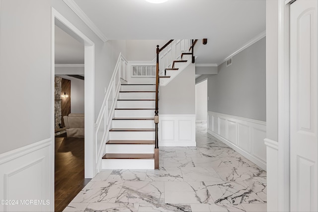
[[[164,202],[213,203],[213,200],[203,182],[164,182]]]

